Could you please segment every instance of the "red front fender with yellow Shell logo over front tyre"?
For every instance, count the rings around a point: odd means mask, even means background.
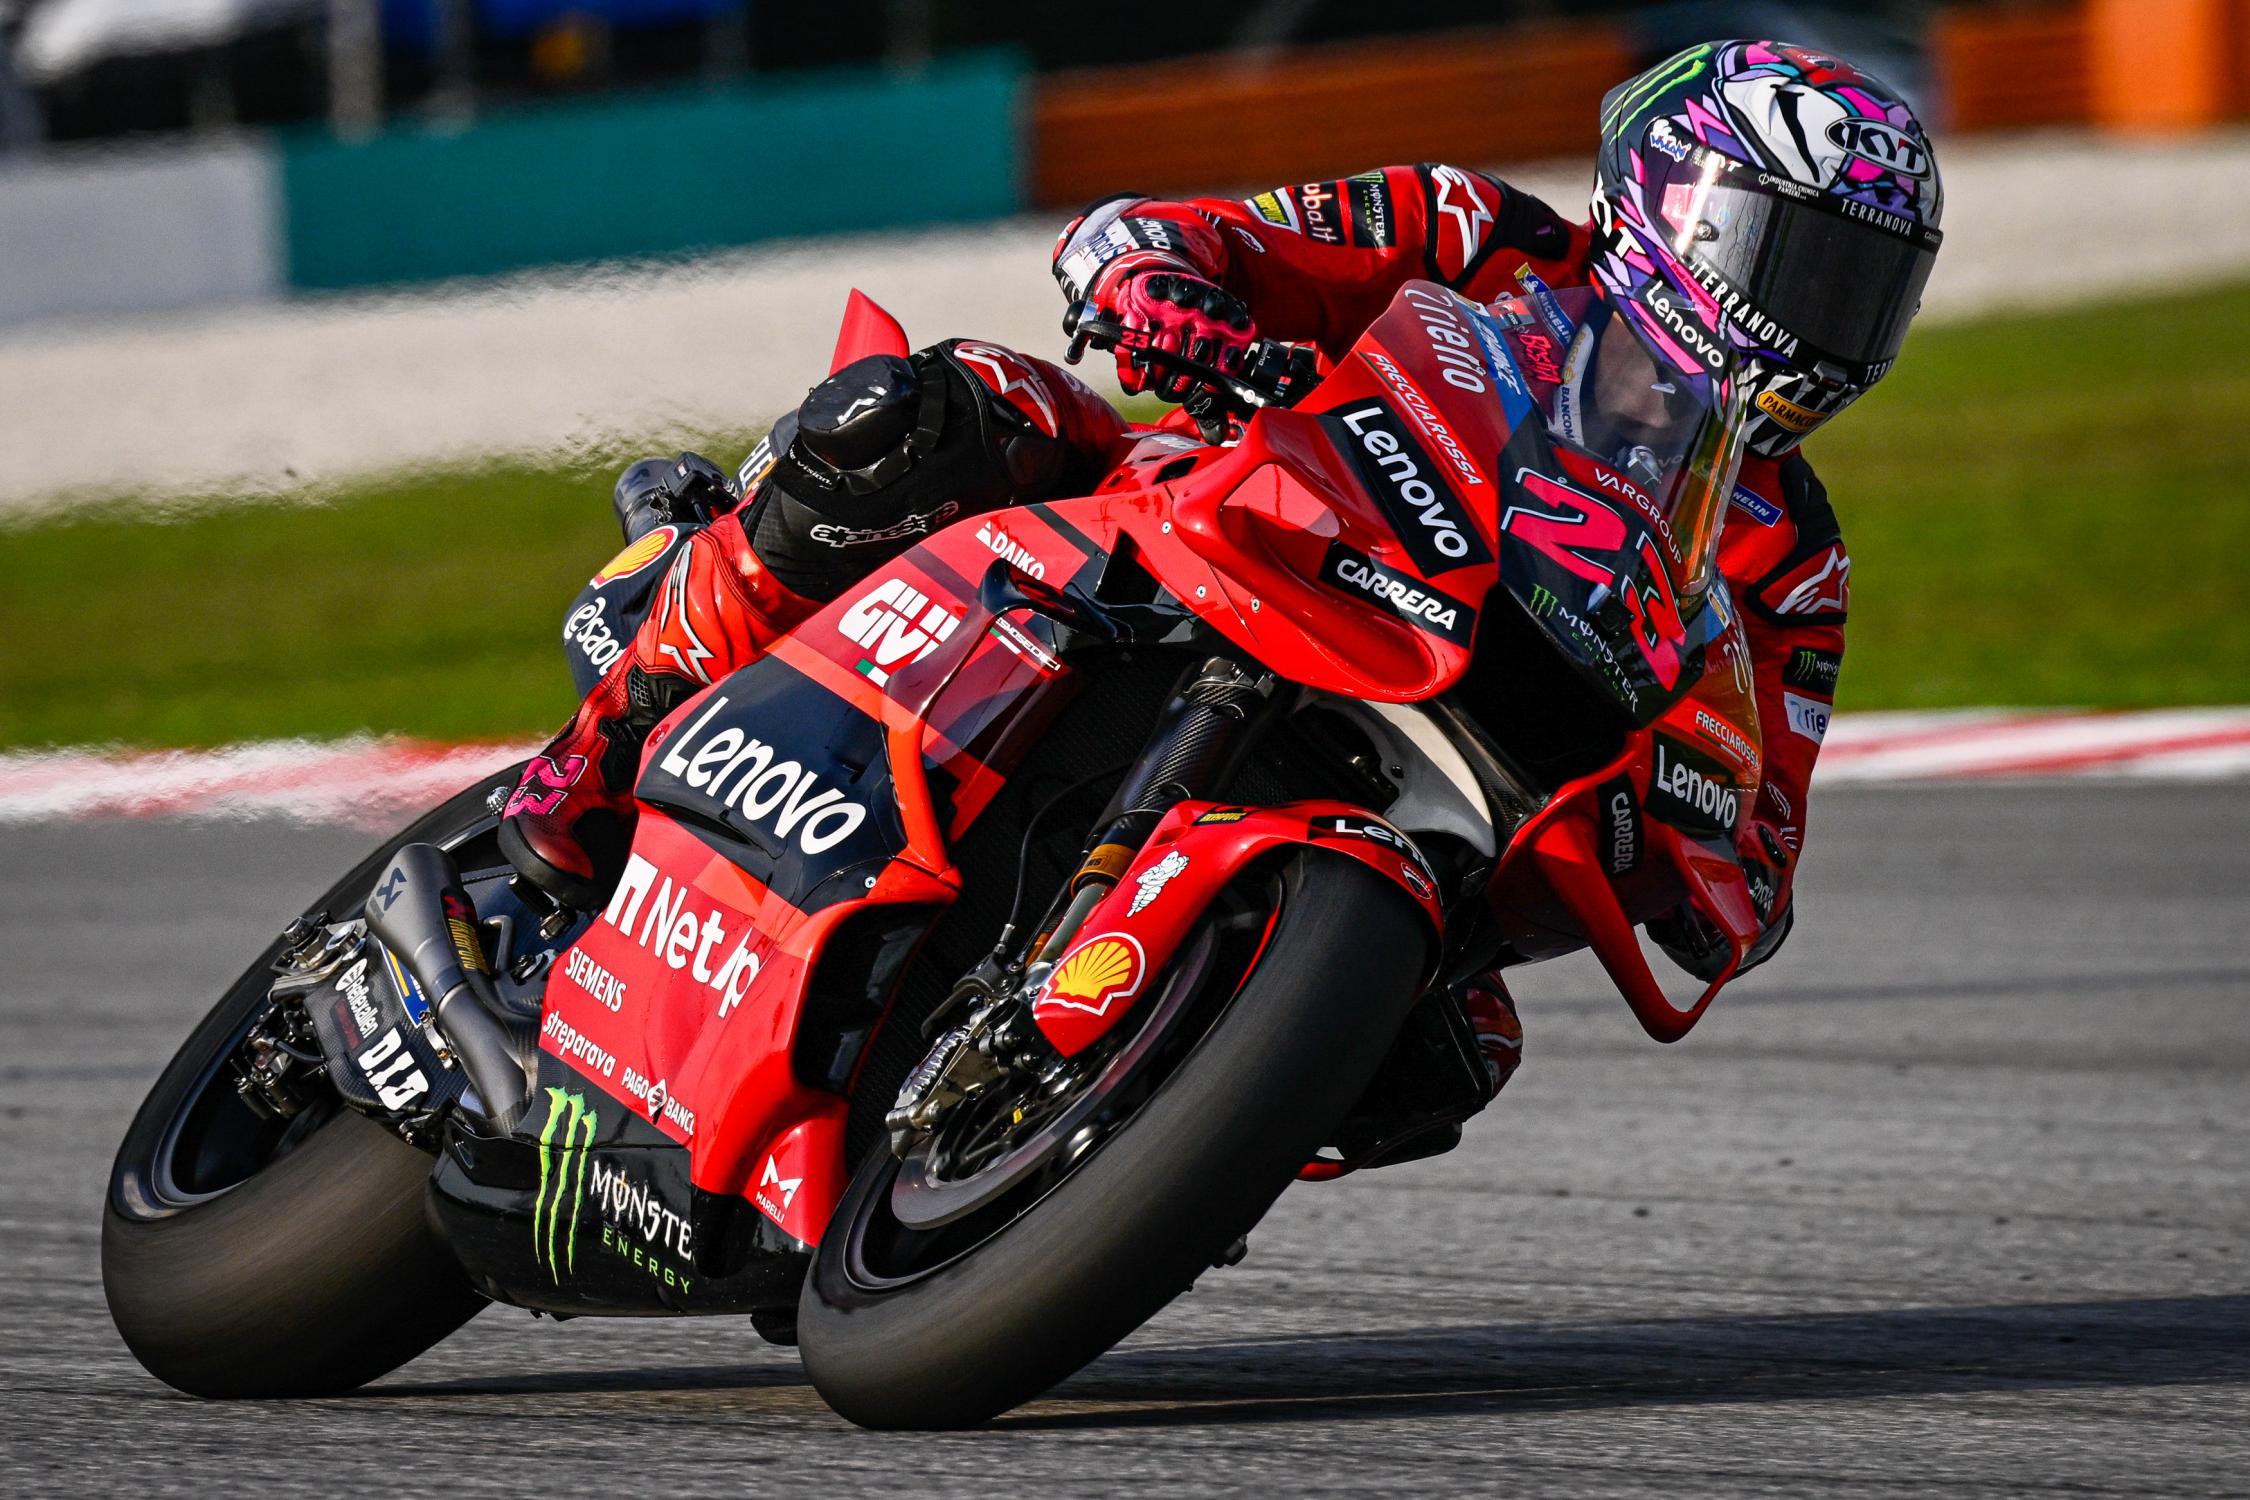
[[[1289,843],[1336,850],[1368,866],[1422,909],[1442,942],[1436,875],[1413,839],[1366,807],[1181,803],[1156,823],[1116,891],[1087,913],[1040,987],[1030,1014],[1046,1039],[1064,1057],[1094,1046],[1134,1007],[1150,978],[1163,974],[1226,882]]]

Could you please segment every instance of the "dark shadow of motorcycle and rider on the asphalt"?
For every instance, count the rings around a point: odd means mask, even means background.
[[[1703,1401],[2250,1381],[2250,1295],[2016,1307],[1474,1325],[1109,1354],[1001,1417],[1017,1430],[1503,1415]],[[558,1370],[394,1381],[358,1399],[756,1392],[801,1408],[796,1365]]]

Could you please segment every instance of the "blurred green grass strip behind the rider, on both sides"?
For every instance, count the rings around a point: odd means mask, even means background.
[[[2246,349],[2250,286],[1915,335],[1809,445],[1854,555],[1845,708],[2250,699]],[[608,488],[493,463],[0,531],[0,744],[544,733]]]

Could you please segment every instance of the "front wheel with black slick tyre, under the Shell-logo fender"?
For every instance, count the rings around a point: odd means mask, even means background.
[[[1413,1005],[1429,924],[1341,855],[1298,850],[1256,886],[1152,985],[1143,1025],[1177,1046],[1089,1084],[1114,1095],[1069,1111],[1060,1167],[1017,1169],[994,1199],[963,1151],[954,1187],[974,1208],[909,1226],[893,1205],[929,1192],[927,1165],[868,1156],[799,1302],[828,1406],[868,1428],[956,1428],[1028,1401],[1186,1291],[1325,1145]],[[1098,1138],[1087,1120],[1107,1122]],[[990,1151],[990,1169],[1019,1156]]]

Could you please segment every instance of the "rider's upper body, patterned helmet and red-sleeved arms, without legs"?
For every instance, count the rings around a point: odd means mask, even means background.
[[[1724,331],[1753,403],[1719,571],[1744,607],[1766,726],[1739,841],[1768,922],[1746,960],[1757,963],[1793,920],[1807,783],[1850,609],[1852,558],[1798,445],[1897,358],[1940,243],[1937,164],[1904,99],[1850,63],[1703,43],[1604,97],[1591,207],[1591,223],[1570,223],[1487,173],[1429,162],[1244,200],[1127,193],[1064,227],[1053,270],[1073,304],[1222,369],[1258,337],[1341,358],[1411,279],[1474,301],[1526,297],[1562,328],[1557,288],[1591,283],[1618,306],[1656,292]],[[1586,376],[1557,351],[1557,378],[1573,373]],[[1184,394],[1123,346],[1118,380]],[[1688,911],[1649,927],[1703,978],[1724,960]]]

